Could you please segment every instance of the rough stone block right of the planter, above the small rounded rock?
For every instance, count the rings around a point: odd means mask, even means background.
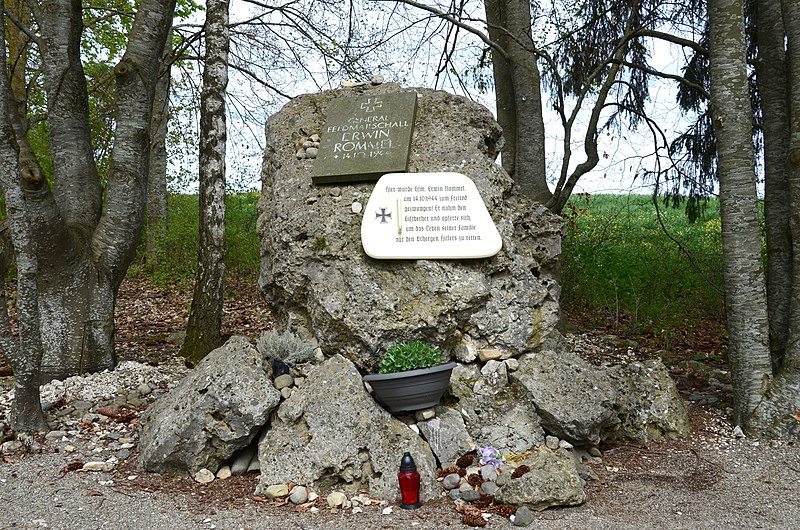
[[[559,438],[597,445],[619,424],[609,377],[571,352],[525,355],[510,377],[530,396],[542,427]]]

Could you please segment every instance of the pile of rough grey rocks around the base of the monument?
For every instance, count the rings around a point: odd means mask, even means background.
[[[541,510],[584,501],[585,482],[593,477],[585,463],[599,461],[601,441],[687,432],[683,402],[656,361],[602,368],[569,352],[549,352],[492,359],[482,367],[459,364],[450,406],[396,418],[378,406],[355,364],[340,355],[295,365],[291,382],[284,377],[289,374],[273,378],[260,355],[246,339],[233,338],[151,406],[141,419],[140,465],[169,465],[198,481],[213,480],[221,470],[225,476],[258,470],[256,495],[304,504],[309,492],[332,490],[341,495],[328,503],[350,508],[358,507],[352,499],[362,491],[396,500],[399,459],[408,451],[424,501],[446,491],[460,503]],[[242,389],[237,396],[223,384],[231,380]],[[633,397],[618,391],[633,387],[639,389]],[[560,404],[564,394],[572,414]],[[234,437],[234,431],[260,435]],[[489,446],[506,455],[502,465],[463,460]]]

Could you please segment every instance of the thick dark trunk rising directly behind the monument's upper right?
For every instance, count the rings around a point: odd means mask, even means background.
[[[530,4],[485,0],[489,37],[506,56],[492,54],[497,120],[503,128],[503,169],[525,195],[541,203],[551,196],[545,173],[544,119],[536,49],[531,39]]]

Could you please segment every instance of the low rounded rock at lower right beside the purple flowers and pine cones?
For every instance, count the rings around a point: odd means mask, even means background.
[[[523,460],[522,465],[528,466],[530,471],[510,479],[495,493],[495,499],[533,510],[586,502],[583,481],[575,460],[567,451],[541,448]]]

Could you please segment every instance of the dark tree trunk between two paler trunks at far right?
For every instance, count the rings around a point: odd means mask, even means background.
[[[767,302],[773,372],[783,362],[789,334],[792,240],[789,233],[789,100],[781,6],[757,4],[756,80],[764,119],[764,217],[767,236]]]

